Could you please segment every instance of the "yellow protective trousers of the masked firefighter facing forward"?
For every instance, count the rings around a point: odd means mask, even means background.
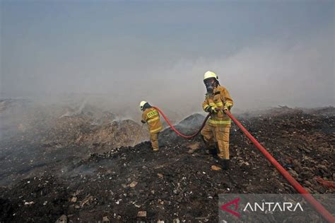
[[[218,142],[218,157],[229,159],[229,132],[230,127],[213,127],[208,124],[201,130],[201,135],[209,147]]]

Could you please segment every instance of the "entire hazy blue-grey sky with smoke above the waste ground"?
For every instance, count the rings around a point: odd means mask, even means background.
[[[201,109],[212,70],[237,108],[334,105],[334,26],[334,1],[1,1],[1,96]]]

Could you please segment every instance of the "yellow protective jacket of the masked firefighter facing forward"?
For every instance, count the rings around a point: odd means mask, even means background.
[[[211,118],[208,120],[208,125],[213,127],[230,127],[231,120],[223,112],[223,108],[230,109],[233,106],[233,99],[230,97],[229,92],[223,86],[217,86],[214,88],[212,94],[206,94],[204,103],[202,103],[202,108],[206,111],[206,108],[211,106],[212,108],[219,108],[218,113],[211,114]]]

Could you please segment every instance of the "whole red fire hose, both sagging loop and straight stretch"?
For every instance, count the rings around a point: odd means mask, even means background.
[[[177,133],[177,135],[180,135],[181,137],[184,137],[186,139],[190,139],[190,138],[195,137],[196,135],[198,135],[199,132],[206,125],[206,121],[208,120],[208,118],[211,116],[211,114],[208,114],[206,116],[204,122],[202,123],[201,128],[197,132],[195,132],[193,135],[187,136],[187,135],[183,135],[182,133],[178,132],[178,130],[176,130],[175,127],[173,127],[171,125],[170,121],[167,119],[167,117],[164,115],[164,113],[159,108],[157,108],[157,107],[153,107],[153,108],[158,110],[158,112],[166,120],[167,124],[170,125],[172,130],[174,130]],[[242,132],[245,133],[245,135],[252,141],[252,143],[257,147],[257,149],[259,149],[259,151],[261,151],[261,153],[264,154],[266,159],[268,159],[271,162],[271,164],[273,164],[276,167],[276,169],[279,171],[279,173],[281,173],[281,175],[283,175],[283,177],[286,178],[286,180],[288,180],[290,185],[292,185],[293,188],[295,188],[295,190],[297,190],[298,193],[300,193],[302,195],[302,197],[304,197],[305,200],[307,200],[307,202],[309,202],[310,205],[312,205],[312,207],[314,207],[315,210],[317,210],[317,212],[319,212],[319,214],[322,215],[322,217],[324,217],[324,219],[326,219],[330,223],[334,223],[335,222],[335,217],[333,217],[331,215],[331,213],[329,213],[328,210],[326,210],[326,208],[324,208],[324,206],[322,206],[322,204],[320,204],[317,200],[315,200],[315,198],[313,198],[313,196],[310,193],[308,193],[307,190],[305,190],[302,187],[302,185],[300,185],[300,183],[298,183],[298,181],[295,181],[293,176],[290,176],[290,173],[288,173],[288,171],[286,171],[286,169],[283,168],[283,166],[281,166],[281,164],[279,164],[278,161],[276,161],[276,159],[274,159],[274,156],[271,156],[271,154],[269,154],[269,152],[266,151],[266,149],[264,147],[262,147],[261,144],[259,144],[259,142],[257,142],[257,140],[245,129],[245,127],[243,127],[243,125],[230,112],[225,111],[225,113],[229,116],[229,118],[231,118],[233,120],[233,122],[235,122],[235,124],[238,127],[240,127]]]

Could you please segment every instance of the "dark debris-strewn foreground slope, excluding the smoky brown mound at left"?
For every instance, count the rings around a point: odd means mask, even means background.
[[[194,132],[203,119],[192,115],[178,128]],[[325,115],[279,109],[239,119],[307,190],[335,192],[319,183],[335,180],[334,108]],[[295,193],[235,125],[230,154],[230,170],[213,171],[216,157],[201,137],[185,140],[167,129],[159,152],[143,142],[45,164],[42,173],[1,188],[0,221],[55,222],[66,215],[70,222],[217,222],[220,193]]]

